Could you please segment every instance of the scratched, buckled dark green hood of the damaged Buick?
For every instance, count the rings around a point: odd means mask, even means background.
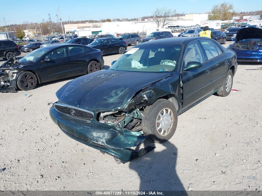
[[[56,92],[56,96],[63,103],[89,111],[118,111],[138,91],[170,76],[168,72],[101,70],[68,82]]]

